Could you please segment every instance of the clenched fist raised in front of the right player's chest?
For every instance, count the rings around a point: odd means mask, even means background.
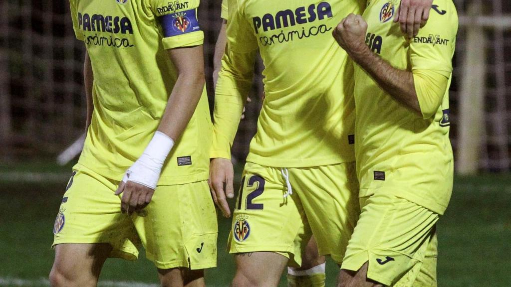
[[[367,23],[362,16],[351,13],[332,32],[335,40],[350,56],[368,49],[365,45]]]

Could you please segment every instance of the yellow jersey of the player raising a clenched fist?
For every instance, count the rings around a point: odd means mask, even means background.
[[[399,23],[392,21],[398,5],[389,0],[368,4],[363,17],[371,51],[400,69],[436,70],[450,77],[458,29],[452,1],[434,0],[426,26],[409,41]],[[423,118],[355,67],[355,152],[361,197],[390,181],[400,197],[443,214],[453,176],[448,91],[449,85],[434,116]]]

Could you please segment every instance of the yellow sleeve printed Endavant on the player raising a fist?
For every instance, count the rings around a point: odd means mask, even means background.
[[[452,1],[435,0],[426,26],[410,40],[412,70],[438,70],[450,74],[457,31],[458,15]]]

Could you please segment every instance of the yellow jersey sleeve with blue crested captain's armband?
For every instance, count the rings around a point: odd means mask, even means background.
[[[204,33],[197,18],[199,0],[149,0],[163,34],[165,49],[202,45]]]

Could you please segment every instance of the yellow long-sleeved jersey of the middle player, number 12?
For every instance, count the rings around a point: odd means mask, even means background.
[[[224,57],[219,74],[211,156],[229,156],[237,122],[217,108],[246,97],[252,72],[240,67],[253,69],[259,49],[265,100],[247,161],[286,168],[354,161],[353,65],[332,31],[364,7],[363,0],[228,0],[228,53],[238,56],[228,67]]]

